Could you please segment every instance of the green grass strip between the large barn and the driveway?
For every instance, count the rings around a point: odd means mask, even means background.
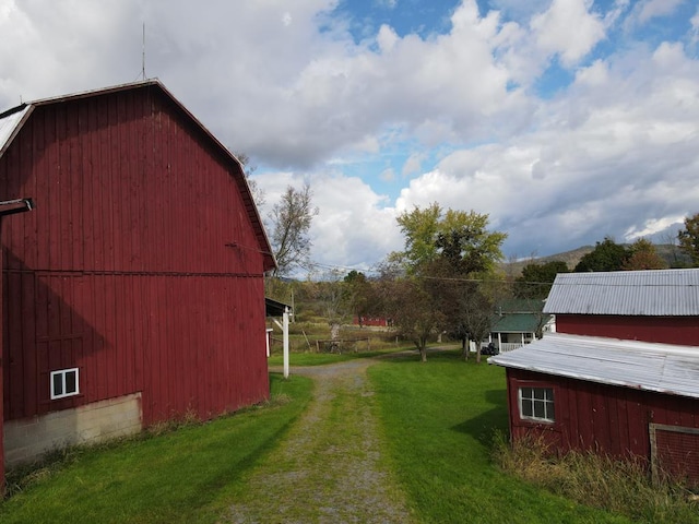
[[[216,522],[224,508],[222,493],[233,489],[303,413],[312,382],[272,376],[271,390],[268,408],[73,451],[62,467],[37,472],[39,480],[0,504],[0,522]]]

